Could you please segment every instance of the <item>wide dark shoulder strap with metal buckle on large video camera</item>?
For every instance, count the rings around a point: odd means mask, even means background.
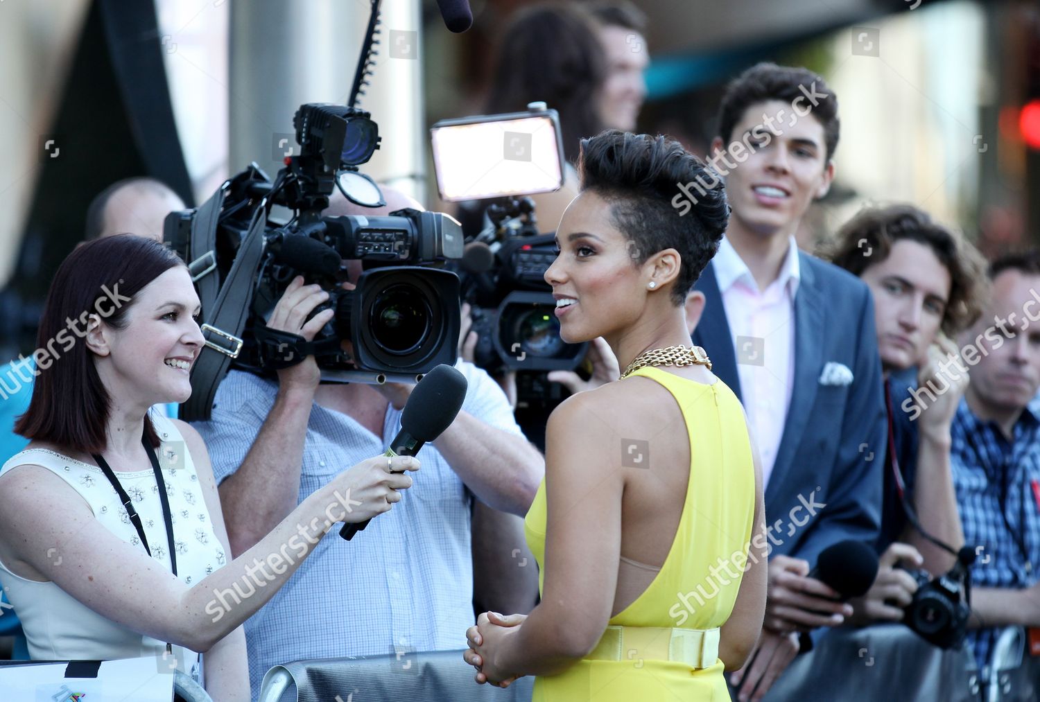
[[[253,215],[249,233],[242,239],[212,309],[206,310],[203,307],[207,322],[202,326],[201,331],[206,345],[191,368],[193,390],[187,401],[181,405],[181,419],[186,421],[209,419],[216,388],[228,372],[232,359],[238,358],[242,350],[241,333],[249,316],[254,278],[260,265],[260,257],[263,255],[266,222],[266,209],[258,207]]]

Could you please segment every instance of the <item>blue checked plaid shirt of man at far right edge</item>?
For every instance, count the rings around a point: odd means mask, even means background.
[[[964,543],[977,547],[976,588],[1023,589],[1040,568],[1040,396],[1022,411],[1009,442],[992,421],[981,421],[961,399],[951,427],[951,466]],[[999,628],[968,631],[979,668],[989,664]]]

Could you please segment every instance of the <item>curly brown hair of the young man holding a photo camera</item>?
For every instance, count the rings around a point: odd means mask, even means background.
[[[838,230],[829,258],[849,272],[862,276],[867,267],[887,259],[892,245],[902,239],[931,249],[950,271],[950,300],[941,323],[946,336],[973,324],[982,314],[987,295],[982,254],[913,205],[870,207],[860,211]],[[870,255],[865,256],[864,251]]]

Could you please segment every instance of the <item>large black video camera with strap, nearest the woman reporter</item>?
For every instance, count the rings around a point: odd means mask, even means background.
[[[192,371],[186,419],[207,419],[229,364],[270,374],[313,355],[322,381],[415,382],[453,364],[461,328],[458,276],[444,265],[463,254],[459,223],[439,212],[404,209],[388,216],[324,216],[334,187],[366,206],[385,205],[358,166],[380,147],[379,127],[357,107],[371,74],[379,2],[346,106],[312,103],[293,116],[298,156],[274,182],[252,163],[204,205],[171,213],[163,238],[186,261],[202,301],[206,348]],[[292,210],[276,222],[271,207]],[[343,260],[362,262],[355,289],[343,289]],[[265,318],[296,275],[329,292],[316,309],[335,316],[306,342],[268,329]],[[345,342],[349,342],[346,346]]]

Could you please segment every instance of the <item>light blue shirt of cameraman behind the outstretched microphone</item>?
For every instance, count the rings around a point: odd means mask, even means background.
[[[505,394],[470,363],[463,411],[523,436]],[[217,483],[241,465],[274,406],[278,385],[231,371],[217,389],[210,421],[194,422]],[[317,404],[311,408],[297,503],[337,473],[383,453],[400,428],[387,409],[383,435]],[[463,648],[473,623],[470,553],[472,493],[432,445],[415,484],[390,512],[353,541],[334,527],[288,582],[245,622],[253,699],[271,666],[305,658]],[[509,470],[509,466],[501,466]],[[288,551],[290,555],[293,551]]]

